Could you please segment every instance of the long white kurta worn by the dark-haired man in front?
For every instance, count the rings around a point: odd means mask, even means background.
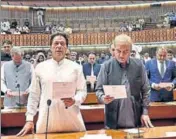
[[[32,81],[31,93],[28,99],[26,120],[33,120],[39,103],[37,133],[44,133],[46,130],[48,99],[52,100],[48,132],[85,131],[84,121],[79,109],[79,105],[87,95],[82,68],[77,63],[67,59],[59,63],[50,59],[37,65],[35,74],[36,78]],[[65,105],[61,100],[55,100],[52,97],[53,82],[76,83],[75,104],[73,106],[65,109]]]

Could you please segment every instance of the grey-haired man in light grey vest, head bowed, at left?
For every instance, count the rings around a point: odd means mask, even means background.
[[[1,91],[5,93],[4,108],[16,108],[21,104],[27,104],[34,68],[23,60],[23,55],[24,52],[20,48],[12,48],[12,60],[1,67]],[[20,100],[19,91],[22,93]]]

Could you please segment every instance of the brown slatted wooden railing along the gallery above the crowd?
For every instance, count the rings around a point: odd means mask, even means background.
[[[152,29],[125,32],[134,42],[175,41],[176,28]],[[119,32],[85,32],[73,33],[69,37],[70,45],[109,44]],[[0,35],[1,41],[9,39],[15,46],[49,46],[50,34]]]

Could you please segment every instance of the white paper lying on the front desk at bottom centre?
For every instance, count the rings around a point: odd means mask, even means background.
[[[112,139],[112,137],[107,136],[106,134],[86,134],[80,139]]]

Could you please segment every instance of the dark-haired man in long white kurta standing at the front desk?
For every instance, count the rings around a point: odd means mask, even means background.
[[[68,38],[64,33],[51,35],[50,49],[52,59],[41,62],[35,69],[28,98],[26,124],[17,136],[23,136],[34,128],[34,116],[37,111],[37,133],[46,132],[47,101],[52,100],[48,119],[48,132],[80,132],[85,131],[85,125],[79,106],[84,102],[87,91],[82,68],[77,63],[65,59],[68,48]],[[53,98],[54,82],[75,83],[75,95],[72,98]],[[39,108],[38,108],[39,106]],[[56,124],[58,123],[58,124]]]

